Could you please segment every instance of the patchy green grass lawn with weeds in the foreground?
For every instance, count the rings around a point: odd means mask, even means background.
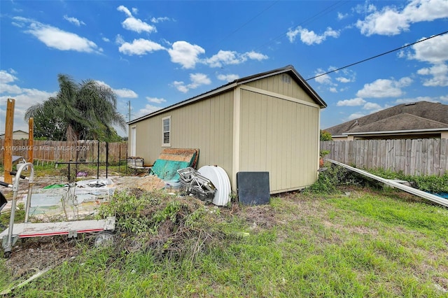
[[[146,223],[188,231],[190,249],[168,236],[162,249],[130,250],[130,239],[158,237],[139,226],[139,237],[118,234],[113,247],[79,244],[83,253],[15,297],[448,297],[448,210],[398,190],[291,192],[264,206],[189,215],[182,204],[166,206],[167,216]],[[127,214],[141,216],[137,209]],[[181,213],[189,224],[177,227]],[[130,216],[120,217],[122,232]],[[0,288],[18,283],[4,262]]]

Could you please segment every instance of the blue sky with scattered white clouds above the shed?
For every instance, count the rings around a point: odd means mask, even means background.
[[[129,120],[292,64],[303,78],[448,30],[448,0],[0,1],[0,132],[55,95],[57,74],[93,79]],[[321,128],[412,101],[448,104],[448,34],[307,80]],[[448,115],[447,115],[448,117]],[[127,135],[127,132],[119,132]]]

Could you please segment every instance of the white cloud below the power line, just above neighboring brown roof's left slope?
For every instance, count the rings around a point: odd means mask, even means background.
[[[365,84],[356,96],[362,98],[400,97],[403,94],[401,88],[411,83],[412,79],[407,77],[400,80],[378,79],[373,83]]]

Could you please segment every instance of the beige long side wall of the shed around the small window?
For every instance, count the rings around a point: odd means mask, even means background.
[[[171,116],[171,148],[199,148],[198,168],[216,164],[231,175],[233,91],[135,123],[136,153],[146,164],[153,164],[164,148],[162,118],[167,116]]]

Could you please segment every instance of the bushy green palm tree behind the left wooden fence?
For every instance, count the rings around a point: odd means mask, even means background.
[[[76,83],[67,75],[59,74],[59,92],[41,104],[27,109],[25,120],[34,118],[36,137],[76,141],[121,139],[113,125],[125,128],[125,118],[116,111],[116,94],[110,87],[94,80]]]

